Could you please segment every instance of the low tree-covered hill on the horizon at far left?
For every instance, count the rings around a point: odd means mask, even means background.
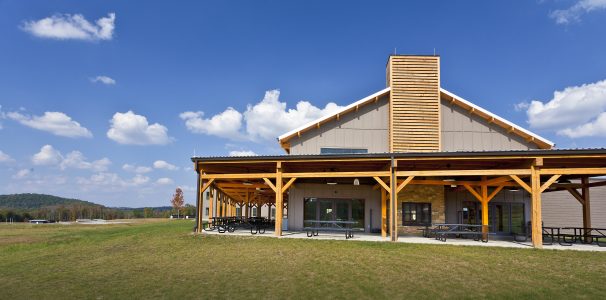
[[[44,194],[12,194],[0,195],[0,208],[5,209],[39,209],[52,206],[81,205],[88,207],[103,208],[103,205],[63,197]]]

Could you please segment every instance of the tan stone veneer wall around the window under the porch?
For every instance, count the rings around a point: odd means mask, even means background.
[[[431,203],[431,222],[445,223],[444,187],[437,185],[408,185],[398,194],[398,234],[420,234],[418,226],[402,225],[403,202]]]

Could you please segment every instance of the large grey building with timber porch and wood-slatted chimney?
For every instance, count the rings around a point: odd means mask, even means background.
[[[273,206],[282,208],[276,235],[304,220],[346,219],[391,240],[432,223],[510,235],[532,221],[536,247],[543,220],[604,224],[606,201],[589,190],[606,194],[606,181],[592,179],[606,174],[606,149],[556,149],[441,88],[439,56],[392,55],[386,79],[385,89],[281,135],[285,155],[193,157],[212,216]]]

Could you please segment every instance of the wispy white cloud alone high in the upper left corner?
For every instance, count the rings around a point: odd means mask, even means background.
[[[37,21],[25,21],[21,29],[30,34],[57,40],[111,40],[114,35],[116,14],[99,18],[92,24],[81,14],[56,14]]]

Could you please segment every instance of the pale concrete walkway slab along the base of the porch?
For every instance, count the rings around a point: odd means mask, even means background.
[[[273,230],[268,230],[265,234],[251,235],[249,230],[236,230],[233,233],[219,233],[216,230],[204,231],[204,234],[212,235],[228,235],[228,236],[252,236],[252,237],[274,237]],[[368,233],[356,233],[352,239],[345,239],[345,234],[337,233],[320,233],[318,236],[307,237],[305,232],[300,231],[283,231],[282,237],[284,239],[315,239],[315,240],[343,240],[343,241],[365,241],[365,242],[388,242],[389,238],[382,238],[378,234]],[[398,243],[413,243],[413,244],[434,244],[434,245],[456,245],[456,246],[478,246],[478,247],[505,247],[505,248],[526,248],[532,249],[532,243],[528,242],[514,242],[511,240],[490,240],[488,243],[482,243],[480,241],[474,241],[472,239],[448,239],[446,242],[441,242],[433,238],[425,238],[420,236],[400,236],[398,237]],[[576,251],[603,251],[606,252],[606,247],[599,247],[595,244],[573,244],[572,246],[562,246],[557,243],[553,245],[543,245],[543,249],[555,249],[555,250],[576,250]]]

